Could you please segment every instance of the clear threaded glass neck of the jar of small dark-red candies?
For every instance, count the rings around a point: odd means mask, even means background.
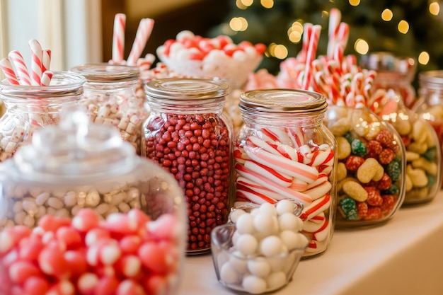
[[[205,114],[216,113],[222,114],[226,98],[205,98],[205,99],[167,99],[154,98],[148,96],[149,107],[151,112],[166,112],[179,114]]]

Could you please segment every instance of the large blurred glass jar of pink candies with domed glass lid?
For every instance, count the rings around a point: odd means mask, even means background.
[[[177,294],[186,220],[177,181],[83,110],[65,117],[0,163],[0,293]],[[17,279],[19,269],[39,284]]]

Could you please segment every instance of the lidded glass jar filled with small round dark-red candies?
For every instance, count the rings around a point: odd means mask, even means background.
[[[142,156],[172,173],[188,209],[188,255],[209,253],[211,231],[231,209],[233,132],[222,110],[228,86],[205,79],[146,83],[151,108]]]

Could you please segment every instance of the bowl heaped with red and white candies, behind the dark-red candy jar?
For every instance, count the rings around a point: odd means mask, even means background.
[[[173,71],[195,78],[222,79],[237,89],[257,69],[265,49],[263,44],[247,41],[237,45],[226,35],[209,38],[183,30],[176,40],[159,46],[156,54]]]

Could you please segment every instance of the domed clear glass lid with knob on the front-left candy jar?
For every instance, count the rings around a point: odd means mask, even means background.
[[[21,178],[76,183],[126,173],[135,158],[134,148],[117,129],[92,124],[86,112],[69,108],[59,125],[35,132],[13,161]]]

